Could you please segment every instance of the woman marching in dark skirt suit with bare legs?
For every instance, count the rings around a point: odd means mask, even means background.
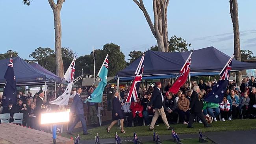
[[[118,120],[120,119],[120,125],[121,125],[121,133],[125,133],[124,131],[124,117],[122,115],[122,109],[121,109],[121,102],[119,100],[119,91],[114,90],[115,96],[113,98],[113,109],[112,109],[112,120],[111,124],[106,128],[107,132],[109,133],[109,130],[111,127],[113,127]]]

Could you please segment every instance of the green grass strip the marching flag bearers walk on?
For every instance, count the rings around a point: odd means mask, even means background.
[[[213,131],[236,131],[236,130],[248,130],[248,129],[256,129],[256,120],[255,119],[246,119],[246,120],[232,120],[232,121],[225,121],[225,122],[213,122],[211,123],[212,127],[205,128],[203,124],[193,124],[195,128],[187,128],[187,125],[184,124],[176,124],[176,125],[170,125],[171,127],[174,127],[174,130],[178,134],[184,134],[184,133],[198,133],[198,128],[202,131],[202,134],[205,132],[213,132]],[[151,136],[153,135],[153,131],[149,131],[149,126],[137,126],[137,127],[127,127],[124,128],[126,131],[126,134],[120,133],[119,126],[114,126],[110,130],[110,133],[108,134],[105,130],[107,126],[100,126],[93,129],[89,129],[88,132],[92,135],[83,135],[83,132],[79,132],[81,139],[95,139],[96,133],[99,134],[100,138],[115,138],[115,132],[122,138],[122,137],[133,137],[134,130],[137,133],[138,138],[140,136]],[[170,135],[171,138],[171,131],[167,131],[165,129],[164,124],[160,124],[159,126],[155,126],[155,131],[160,135]],[[62,137],[70,138],[70,135],[66,135],[66,133],[61,134]],[[77,133],[73,133],[72,137],[77,136]],[[180,137],[182,138],[182,137]]]

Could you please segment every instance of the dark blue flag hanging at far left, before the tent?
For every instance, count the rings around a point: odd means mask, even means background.
[[[16,81],[13,71],[13,55],[11,55],[6,74],[4,75],[6,79],[6,85],[4,87],[4,94],[2,97],[2,105],[3,107],[7,107],[10,104],[15,105],[17,103],[16,97]]]

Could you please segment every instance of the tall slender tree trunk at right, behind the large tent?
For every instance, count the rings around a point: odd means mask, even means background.
[[[234,32],[235,59],[237,61],[241,61],[237,0],[229,0],[229,4],[230,4],[230,16],[232,19],[233,32]],[[237,83],[237,85],[240,85],[242,83],[242,74],[240,71],[236,72],[236,83]]]

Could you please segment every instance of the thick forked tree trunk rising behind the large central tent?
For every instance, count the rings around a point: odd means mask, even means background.
[[[150,30],[156,38],[159,52],[169,52],[168,31],[167,31],[167,7],[169,0],[153,0],[154,25],[148,15],[143,0],[133,0],[143,12]]]

